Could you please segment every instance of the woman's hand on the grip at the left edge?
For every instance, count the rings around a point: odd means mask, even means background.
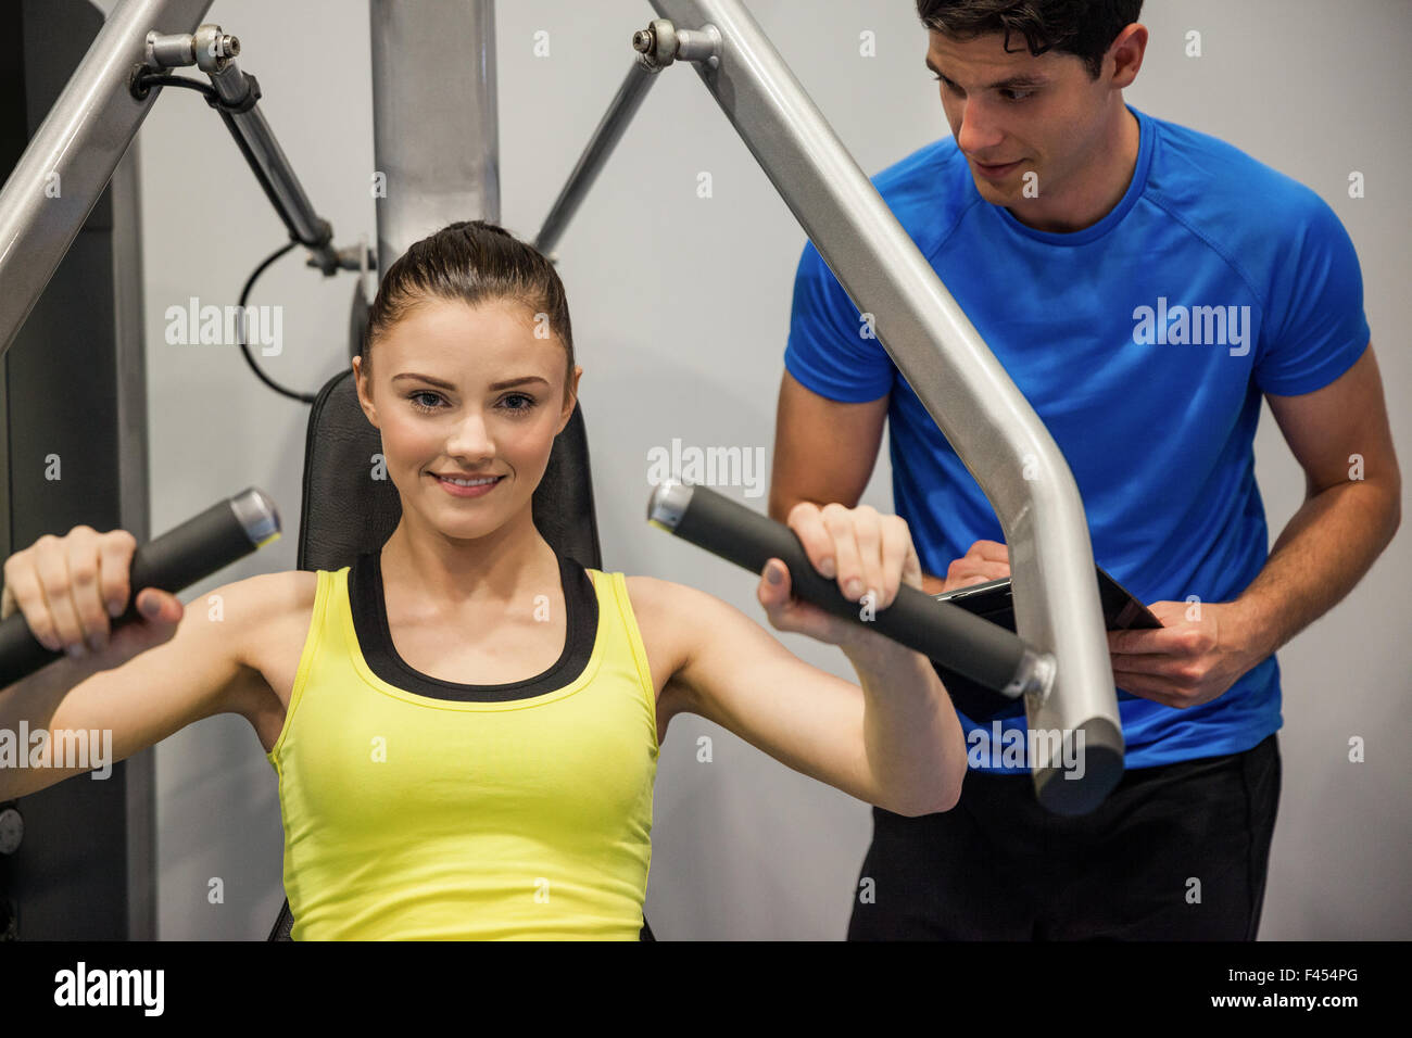
[[[143,619],[112,630],[112,617],[127,609],[136,551],[137,538],[126,530],[78,525],[65,537],[45,534],[6,559],[0,620],[18,610],[45,648],[68,651],[93,671],[121,667],[171,640],[185,612],[175,595],[144,587],[137,596]]]

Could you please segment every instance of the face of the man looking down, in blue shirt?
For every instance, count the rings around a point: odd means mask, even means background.
[[[952,136],[981,198],[1024,213],[1060,212],[1103,161],[1113,89],[1083,61],[1049,51],[1035,58],[1021,37],[959,41],[931,30],[926,65],[940,78]],[[1111,55],[1104,72],[1111,65]],[[1028,185],[1028,193],[1027,193]]]

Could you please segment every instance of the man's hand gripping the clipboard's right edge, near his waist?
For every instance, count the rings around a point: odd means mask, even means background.
[[[1161,630],[1108,631],[1113,679],[1135,696],[1185,710],[1209,703],[1264,660],[1233,602],[1154,602]]]

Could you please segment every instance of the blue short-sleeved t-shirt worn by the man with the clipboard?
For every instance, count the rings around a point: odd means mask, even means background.
[[[986,202],[950,137],[873,184],[1067,459],[1096,562],[1142,602],[1233,602],[1268,555],[1252,452],[1261,397],[1319,390],[1363,354],[1363,275],[1309,188],[1130,110],[1141,126],[1132,182],[1075,233],[1034,230]],[[923,571],[945,575],[974,541],[1004,539],[812,243],[785,367],[830,400],[891,393],[894,507]],[[1279,729],[1279,703],[1274,657],[1186,710],[1120,689],[1127,767],[1248,750]],[[1005,713],[1001,730],[1024,732],[1019,708]],[[1017,770],[1001,765],[991,723],[986,743],[962,724],[969,747],[994,754],[979,770]]]

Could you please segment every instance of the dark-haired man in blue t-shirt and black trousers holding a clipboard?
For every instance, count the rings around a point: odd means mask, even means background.
[[[1274,652],[1401,521],[1348,236],[1308,188],[1124,103],[1141,6],[916,3],[952,138],[874,184],[1053,435],[1099,565],[1163,628],[1108,636],[1128,770],[1097,811],[1049,815],[1028,761],[977,754],[953,811],[874,809],[850,939],[1254,939],[1279,799]],[[771,515],[856,506],[887,418],[897,513],[946,573],[926,590],[1008,575],[990,504],[867,332],[808,246]],[[1268,558],[1262,397],[1308,473]]]

